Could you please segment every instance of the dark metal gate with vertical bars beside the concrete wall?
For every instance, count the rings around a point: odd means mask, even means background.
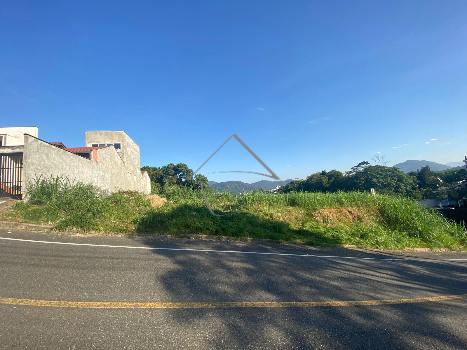
[[[0,154],[0,197],[21,196],[23,154]]]

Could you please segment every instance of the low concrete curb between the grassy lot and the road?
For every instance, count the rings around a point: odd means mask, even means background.
[[[7,229],[19,229],[26,231],[52,231],[53,226],[51,225],[37,225],[37,224],[26,224],[26,223],[15,223],[11,221],[0,221],[0,228]],[[83,231],[80,229],[74,229],[71,231],[57,231],[57,233],[74,233],[74,234],[96,234],[102,235],[103,232],[98,231]],[[115,233],[108,232],[110,235],[115,235]],[[297,241],[282,241],[276,239],[266,239],[266,238],[249,238],[249,237],[231,237],[231,236],[213,236],[213,235],[199,235],[199,234],[181,234],[179,236],[165,235],[165,234],[150,234],[144,232],[131,232],[129,234],[134,235],[150,235],[156,237],[167,237],[167,238],[185,238],[185,239],[202,239],[209,241],[237,241],[237,242],[256,242],[256,243],[274,243],[274,244],[284,244],[284,245],[304,245],[301,242]],[[361,245],[353,244],[333,244],[333,243],[321,243],[319,245],[314,245],[316,247],[325,247],[325,248],[346,248],[346,249],[365,249],[365,250],[389,250],[389,249],[372,249],[365,248]],[[462,248],[462,247],[460,247]],[[409,252],[449,252],[450,249],[440,248],[404,248],[404,251]],[[396,251],[397,252],[397,251]]]

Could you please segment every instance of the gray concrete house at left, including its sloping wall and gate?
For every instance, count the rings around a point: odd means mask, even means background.
[[[35,126],[0,128],[0,196],[21,197],[29,180],[41,175],[92,183],[106,193],[150,193],[149,175],[140,170],[140,148],[124,131],[86,131],[85,147],[37,136]]]

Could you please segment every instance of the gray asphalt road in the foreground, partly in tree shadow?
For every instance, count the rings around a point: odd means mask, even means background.
[[[275,307],[287,301],[466,294],[467,253],[5,229],[0,238],[78,244],[0,239],[0,349],[467,349],[467,298]],[[2,303],[6,298],[20,301]],[[24,305],[23,299],[34,301]],[[43,300],[96,302],[97,307],[50,307],[39,302]],[[207,304],[99,308],[105,305],[99,302]],[[252,304],[207,307],[215,302]],[[256,307],[257,302],[271,302],[271,307]]]

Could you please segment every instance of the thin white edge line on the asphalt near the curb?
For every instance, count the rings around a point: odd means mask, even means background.
[[[34,243],[49,243],[62,245],[85,245],[91,247],[110,247],[110,248],[133,248],[133,249],[149,249],[149,250],[174,250],[186,252],[216,252],[216,253],[239,253],[239,254],[261,254],[261,255],[283,255],[283,256],[303,256],[309,258],[333,258],[333,259],[361,259],[361,260],[391,260],[391,261],[460,261],[466,259],[398,259],[398,258],[361,258],[353,256],[338,256],[338,255],[311,255],[311,254],[291,254],[291,253],[268,253],[268,252],[244,252],[236,250],[214,250],[214,249],[190,249],[190,248],[159,248],[159,247],[137,247],[133,245],[105,245],[105,244],[90,244],[90,243],[68,243],[68,242],[51,242],[38,241],[34,239],[20,239],[0,237],[10,241],[34,242]]]

